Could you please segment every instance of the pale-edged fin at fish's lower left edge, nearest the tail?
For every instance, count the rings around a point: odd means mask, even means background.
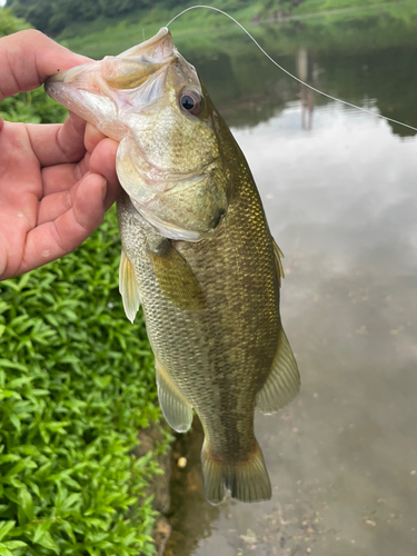
[[[186,433],[192,423],[192,408],[158,361],[156,369],[158,399],[163,417],[173,430]]]

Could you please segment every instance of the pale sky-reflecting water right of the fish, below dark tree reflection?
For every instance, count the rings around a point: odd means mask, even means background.
[[[192,554],[414,554],[417,140],[336,103],[234,133],[286,255],[302,389],[256,418],[272,500],[228,503]]]

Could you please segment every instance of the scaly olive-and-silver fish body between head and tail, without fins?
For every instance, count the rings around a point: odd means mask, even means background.
[[[119,210],[123,248],[141,285],[152,350],[199,414],[212,451],[227,460],[239,460],[254,448],[254,407],[248,408],[247,399],[255,406],[280,328],[271,239],[265,219],[254,218],[254,212],[262,211],[260,199],[245,169],[236,181],[236,198],[216,237],[176,245],[206,295],[207,307],[198,312],[180,310],[163,296],[147,257],[146,238],[140,234],[142,248],[137,256],[136,222],[125,224]],[[256,280],[254,267],[261,269]]]

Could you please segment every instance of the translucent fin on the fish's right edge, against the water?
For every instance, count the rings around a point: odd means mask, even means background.
[[[289,404],[300,389],[300,376],[292,349],[281,329],[272,369],[262,389],[257,394],[256,405],[262,414],[274,414]]]

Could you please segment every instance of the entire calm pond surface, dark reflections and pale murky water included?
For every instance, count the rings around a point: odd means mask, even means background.
[[[284,410],[256,415],[270,502],[209,506],[199,425],[177,440],[187,466],[172,473],[166,555],[417,554],[415,132],[312,95],[257,53],[185,53],[286,256],[281,316],[302,385]],[[417,127],[417,39],[337,52],[300,43],[279,61]]]

